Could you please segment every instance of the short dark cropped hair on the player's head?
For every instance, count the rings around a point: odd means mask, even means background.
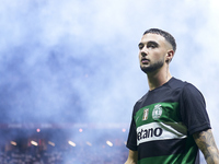
[[[165,31],[162,31],[162,30],[159,30],[159,28],[150,28],[150,30],[147,30],[143,35],[148,34],[148,33],[151,33],[151,34],[158,34],[158,35],[161,35],[165,38],[165,40],[168,40],[172,47],[173,47],[173,50],[175,51],[176,50],[176,43],[175,43],[175,38],[168,32]]]

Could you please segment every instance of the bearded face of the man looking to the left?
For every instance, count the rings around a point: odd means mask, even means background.
[[[146,34],[139,45],[140,68],[145,73],[154,72],[163,67],[166,60],[169,43],[158,34]]]

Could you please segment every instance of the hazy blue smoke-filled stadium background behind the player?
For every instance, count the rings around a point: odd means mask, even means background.
[[[151,27],[175,37],[171,73],[201,91],[219,145],[217,0],[0,2],[0,163],[124,163]]]

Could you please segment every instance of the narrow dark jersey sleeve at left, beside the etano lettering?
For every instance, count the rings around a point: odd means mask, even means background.
[[[128,141],[126,147],[132,151],[137,151],[137,132],[136,132],[136,122],[132,113],[132,119],[129,128]]]

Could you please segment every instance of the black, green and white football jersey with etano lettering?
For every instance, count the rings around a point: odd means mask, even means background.
[[[192,134],[209,128],[201,93],[172,78],[136,103],[127,148],[138,151],[138,164],[196,164]]]

